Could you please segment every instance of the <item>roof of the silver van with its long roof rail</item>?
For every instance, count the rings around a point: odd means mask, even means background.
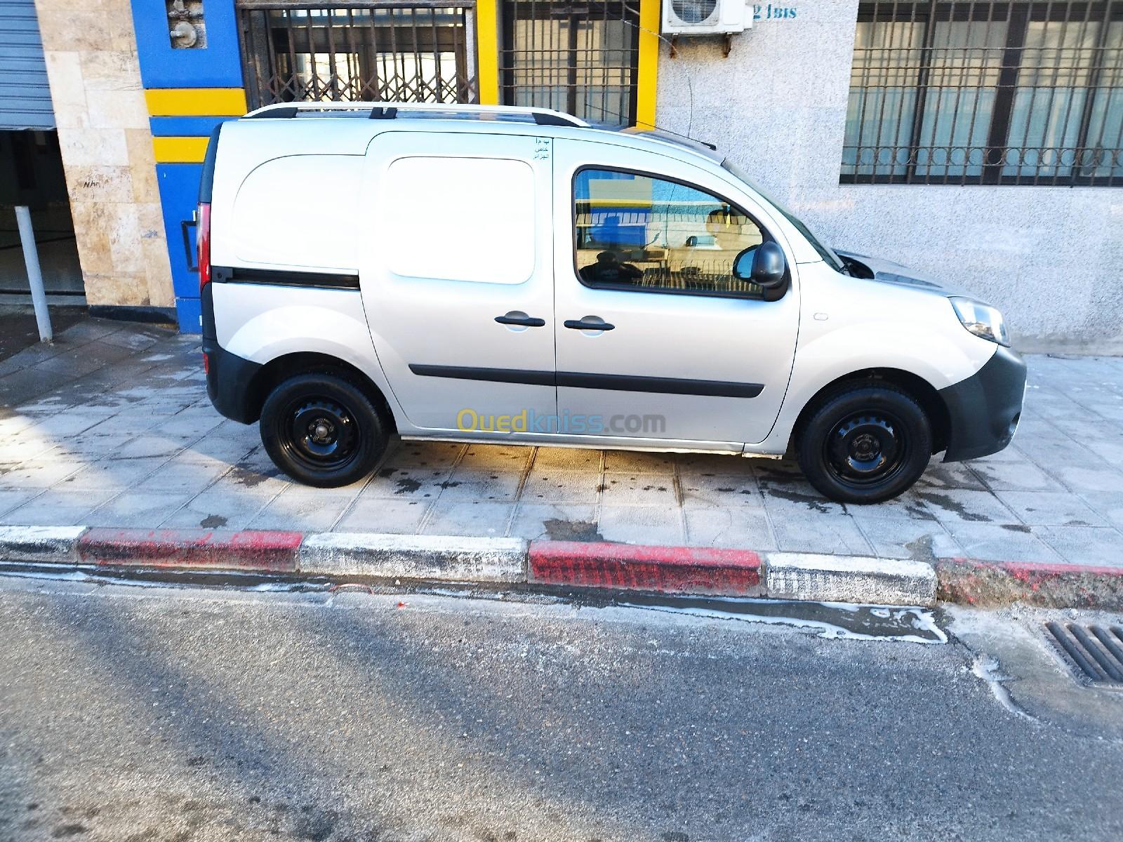
[[[250,111],[243,120],[258,119],[372,119],[372,120],[474,120],[481,128],[487,123],[533,122],[537,126],[585,129],[632,136],[693,152],[720,164],[724,156],[716,147],[685,135],[659,128],[640,129],[621,126],[593,125],[573,115],[548,108],[523,106],[477,106],[469,103],[418,102],[284,102]],[[349,120],[348,120],[349,121]]]

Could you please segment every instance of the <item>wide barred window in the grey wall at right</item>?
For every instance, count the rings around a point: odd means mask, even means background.
[[[861,3],[841,181],[1123,186],[1123,0]]]

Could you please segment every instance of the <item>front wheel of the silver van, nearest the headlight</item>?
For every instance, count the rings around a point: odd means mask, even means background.
[[[932,456],[932,425],[901,390],[851,384],[829,395],[800,430],[807,481],[840,503],[879,503],[915,483]]]

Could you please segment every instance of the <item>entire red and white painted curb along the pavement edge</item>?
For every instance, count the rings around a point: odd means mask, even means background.
[[[514,538],[0,527],[0,562],[983,607],[1123,610],[1123,567]]]

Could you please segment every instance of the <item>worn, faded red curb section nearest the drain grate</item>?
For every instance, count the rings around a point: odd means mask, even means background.
[[[937,598],[944,602],[1123,608],[1123,567],[944,558],[935,562],[935,575]]]

